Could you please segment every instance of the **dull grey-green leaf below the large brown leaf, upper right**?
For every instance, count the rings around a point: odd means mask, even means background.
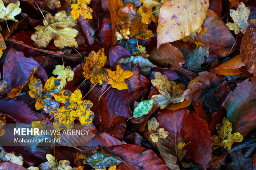
[[[204,63],[204,56],[209,56],[209,47],[197,47],[192,53],[185,55],[184,66],[192,70],[201,70]]]

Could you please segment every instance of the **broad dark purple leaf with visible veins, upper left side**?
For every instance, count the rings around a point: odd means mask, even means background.
[[[23,52],[9,49],[3,66],[3,80],[7,82],[7,90],[23,85],[34,68],[39,64],[33,58],[24,57]]]

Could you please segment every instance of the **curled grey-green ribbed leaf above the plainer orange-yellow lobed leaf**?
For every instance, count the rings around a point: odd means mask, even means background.
[[[148,75],[151,67],[156,67],[148,59],[143,58],[142,56],[130,56],[126,58],[121,58],[116,64],[127,64],[135,65],[139,63],[140,73],[142,75]]]

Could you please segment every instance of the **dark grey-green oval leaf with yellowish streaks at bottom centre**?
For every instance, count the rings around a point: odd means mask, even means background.
[[[118,165],[123,162],[118,156],[113,156],[107,153],[95,153],[90,157],[84,160],[84,163],[87,163],[92,166],[92,168],[104,169],[109,166]]]

